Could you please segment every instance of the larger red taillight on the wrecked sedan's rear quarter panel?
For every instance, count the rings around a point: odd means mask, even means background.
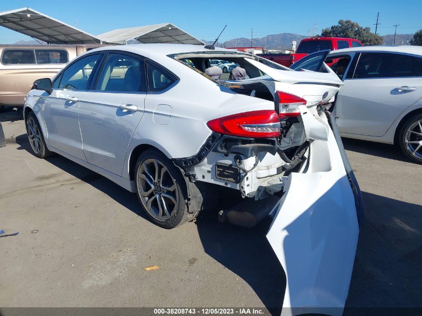
[[[272,110],[224,116],[209,121],[207,125],[212,131],[225,135],[254,138],[280,136],[280,122],[276,111]]]

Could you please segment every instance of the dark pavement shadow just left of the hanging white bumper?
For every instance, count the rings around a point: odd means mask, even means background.
[[[206,210],[196,220],[205,252],[246,281],[268,311],[279,316],[286,276],[266,238],[272,220],[247,229],[220,223],[217,218],[217,210]]]

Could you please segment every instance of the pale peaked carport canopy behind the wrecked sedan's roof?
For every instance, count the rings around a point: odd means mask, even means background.
[[[204,44],[171,23],[120,28],[99,34],[97,37],[103,42],[113,44],[130,44],[131,40],[140,43]]]

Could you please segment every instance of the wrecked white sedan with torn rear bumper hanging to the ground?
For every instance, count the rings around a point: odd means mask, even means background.
[[[212,79],[204,72],[214,59],[246,78]],[[297,72],[222,48],[103,47],[36,80],[24,117],[36,156],[58,153],[137,193],[164,228],[215,207],[219,187],[233,189],[245,200],[221,220],[274,218],[267,238],[287,277],[283,313],[341,314],[362,214],[326,110],[342,84],[328,67]]]

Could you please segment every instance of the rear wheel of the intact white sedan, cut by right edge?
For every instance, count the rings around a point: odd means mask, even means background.
[[[399,144],[410,160],[422,164],[422,113],[410,117],[402,125]]]

